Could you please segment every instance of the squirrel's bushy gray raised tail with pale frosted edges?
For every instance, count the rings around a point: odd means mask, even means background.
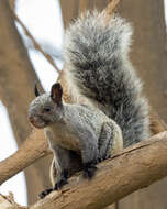
[[[120,16],[87,12],[66,33],[68,78],[122,128],[124,146],[149,135],[148,105],[129,61],[132,28]]]

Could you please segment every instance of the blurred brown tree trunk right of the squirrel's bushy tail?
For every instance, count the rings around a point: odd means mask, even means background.
[[[120,13],[134,26],[132,62],[145,80],[144,88],[151,105],[167,122],[167,58],[164,1],[126,0]]]

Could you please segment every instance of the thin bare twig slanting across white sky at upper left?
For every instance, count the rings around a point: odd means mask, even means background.
[[[13,10],[12,10],[12,12],[13,12],[13,15],[14,15],[15,21],[23,28],[25,34],[26,34],[26,35],[31,38],[31,41],[33,42],[34,47],[43,54],[43,56],[48,61],[48,63],[49,63],[49,64],[57,70],[57,73],[59,74],[60,70],[58,69],[58,67],[57,67],[56,64],[54,63],[53,58],[52,58],[47,53],[45,53],[45,52],[42,50],[41,45],[35,41],[35,38],[32,36],[32,34],[29,32],[29,30],[26,29],[26,26],[22,23],[22,21],[21,21],[21,20],[19,19],[19,16],[15,14],[15,12],[14,12]]]

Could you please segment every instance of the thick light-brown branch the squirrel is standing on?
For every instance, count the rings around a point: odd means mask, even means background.
[[[167,175],[167,132],[101,163],[91,180],[70,180],[30,209],[101,209]]]

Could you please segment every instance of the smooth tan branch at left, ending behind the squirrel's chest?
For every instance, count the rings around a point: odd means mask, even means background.
[[[51,153],[44,133],[34,131],[13,155],[0,162],[0,185],[36,160]]]

